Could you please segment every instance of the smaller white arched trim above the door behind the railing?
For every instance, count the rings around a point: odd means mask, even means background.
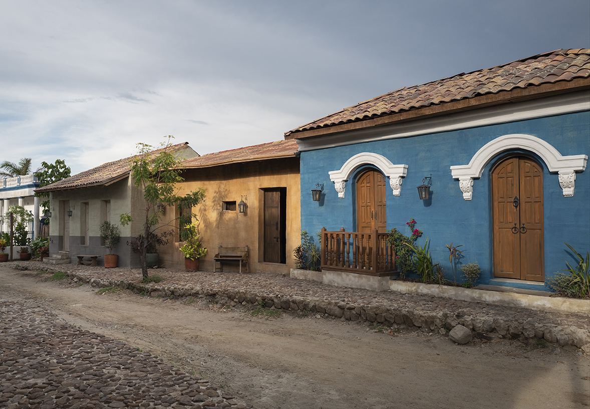
[[[394,165],[389,159],[378,153],[363,152],[348,159],[340,170],[328,172],[340,199],[344,198],[346,181],[350,179],[356,169],[363,165],[375,166],[383,172],[383,175],[388,176],[389,186],[393,189],[394,196],[399,196],[402,178],[408,172],[408,165]]]

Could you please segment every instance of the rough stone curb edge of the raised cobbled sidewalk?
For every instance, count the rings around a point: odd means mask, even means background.
[[[59,271],[59,268],[46,266],[46,271]],[[66,272],[68,277],[78,279],[94,287],[119,287],[144,293],[150,297],[222,297],[237,305],[264,305],[274,309],[290,310],[293,312],[306,311],[322,313],[337,319],[350,321],[368,321],[388,325],[417,326],[424,331],[444,329],[445,333],[457,325],[463,325],[471,331],[480,333],[495,333],[504,338],[545,339],[561,346],[575,345],[578,348],[590,343],[590,330],[577,328],[572,325],[557,325],[553,323],[537,323],[533,319],[515,321],[499,316],[470,315],[468,310],[453,312],[448,309],[437,311],[422,311],[418,308],[409,309],[403,306],[376,306],[365,303],[332,302],[314,297],[290,296],[286,293],[244,292],[241,289],[219,289],[191,286],[159,286],[155,283],[132,283],[127,280],[99,279],[87,277],[76,272]],[[222,301],[222,300],[220,300]]]

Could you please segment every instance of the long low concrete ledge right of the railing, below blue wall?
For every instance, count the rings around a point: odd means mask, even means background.
[[[398,280],[391,280],[389,282],[389,289],[402,293],[425,294],[453,300],[481,301],[509,307],[524,307],[534,310],[590,315],[590,300],[500,293],[463,287],[439,286],[438,284],[410,283]]]

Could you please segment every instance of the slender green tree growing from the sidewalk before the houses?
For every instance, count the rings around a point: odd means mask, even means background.
[[[205,191],[202,188],[188,192],[183,196],[179,195],[180,189],[176,185],[184,180],[181,176],[181,161],[176,159],[174,155],[173,145],[170,142],[172,136],[167,138],[168,141],[162,143],[161,148],[158,150],[152,150],[153,146],[146,143],[138,143],[138,155],[133,156],[130,162],[130,175],[133,184],[140,189],[145,199],[145,208],[132,210],[132,212],[142,214],[143,234],[138,237],[138,244],[144,282],[148,280],[146,254],[149,237],[152,237],[152,234],[158,228],[170,227],[176,220],[173,219],[168,224],[156,227],[162,220],[162,211],[158,210],[158,204],[161,202],[171,207],[181,205],[183,208],[192,208],[205,198]],[[186,216],[189,219],[195,218],[196,220],[195,214]],[[133,221],[133,217],[129,213],[123,213],[120,220],[121,224],[126,226]],[[179,221],[181,227],[189,223],[191,223],[191,220]]]

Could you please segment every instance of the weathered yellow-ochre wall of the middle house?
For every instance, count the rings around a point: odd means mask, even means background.
[[[212,168],[186,169],[180,194],[204,188],[205,200],[193,209],[197,214],[199,232],[207,255],[200,259],[200,269],[214,271],[213,257],[219,246],[248,246],[250,271],[261,273],[289,273],[294,267],[293,249],[300,244],[300,185],[299,158],[270,159],[260,162],[235,163]],[[287,263],[263,262],[261,225],[264,203],[261,192],[265,188],[287,188],[286,256]],[[244,196],[247,211],[222,211],[222,202],[238,204]],[[176,210],[166,208],[165,219],[171,220]],[[163,267],[184,267],[184,256],[179,248],[178,234],[174,243],[159,249]],[[235,264],[235,266],[234,266]],[[224,264],[224,271],[237,269],[237,263]]]

